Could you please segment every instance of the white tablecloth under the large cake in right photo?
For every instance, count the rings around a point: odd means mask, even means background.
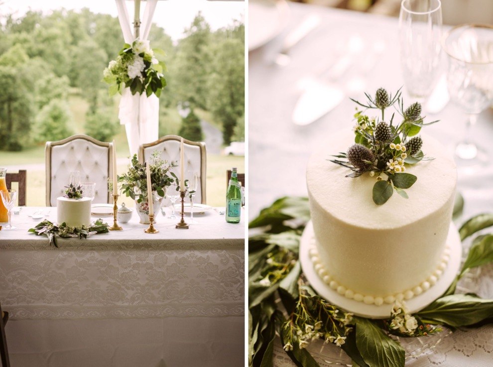
[[[310,154],[316,146],[325,143],[331,131],[350,129],[354,124],[356,105],[349,97],[364,101],[364,92],[374,95],[383,87],[393,94],[403,86],[396,18],[297,3],[289,3],[289,7],[290,19],[284,32],[264,47],[249,52],[248,57],[250,220],[279,197],[306,196],[305,172]],[[320,26],[291,49],[291,62],[287,66],[273,64],[283,38],[309,14],[321,17]],[[362,48],[352,55],[352,66],[332,81],[344,90],[343,101],[318,121],[307,126],[295,125],[291,116],[308,84],[307,78],[321,79],[320,71],[329,70],[343,54],[344,46],[355,40]],[[380,52],[378,60],[367,70],[374,52]],[[445,59],[443,61],[445,71]],[[405,91],[403,97],[406,106],[414,102]],[[452,150],[464,134],[465,115],[452,103],[434,115],[426,115],[427,121],[440,122],[423,128],[423,131]],[[493,156],[491,109],[479,116],[473,133],[475,140],[487,149],[487,155]],[[467,169],[459,170],[458,190],[465,198],[464,214],[459,223],[473,215],[493,211],[492,187],[491,160],[474,174]],[[483,274],[482,280],[487,282],[487,293],[483,295],[493,298],[492,272]],[[281,353],[276,355],[275,366],[294,366]],[[491,366],[492,355],[493,327],[485,326],[452,334],[425,355],[408,360],[406,366]]]

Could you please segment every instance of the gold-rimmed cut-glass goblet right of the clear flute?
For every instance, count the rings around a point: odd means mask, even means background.
[[[478,114],[493,103],[493,26],[458,25],[446,34],[444,50],[450,98],[468,115],[464,139],[455,152],[463,163],[475,165],[486,160],[471,141],[470,130]]]

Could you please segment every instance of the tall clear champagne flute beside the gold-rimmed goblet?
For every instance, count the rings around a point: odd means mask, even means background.
[[[421,105],[440,76],[440,0],[402,0],[399,13],[400,63],[409,96]]]

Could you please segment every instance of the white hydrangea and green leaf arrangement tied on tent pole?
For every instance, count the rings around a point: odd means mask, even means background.
[[[145,91],[147,97],[155,94],[161,95],[161,90],[166,87],[163,70],[166,65],[156,58],[163,55],[163,50],[149,47],[149,41],[136,39],[131,45],[125,43],[123,49],[115,60],[104,71],[103,81],[110,84],[110,97],[122,93],[123,88],[130,88],[132,95],[142,94]]]

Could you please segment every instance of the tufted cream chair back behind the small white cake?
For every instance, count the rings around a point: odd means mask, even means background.
[[[48,141],[46,159],[46,206],[56,206],[56,198],[65,195],[70,171],[80,171],[81,182],[96,182],[93,203],[109,203],[108,177],[113,168],[113,143],[87,135],[72,135],[59,141]]]

